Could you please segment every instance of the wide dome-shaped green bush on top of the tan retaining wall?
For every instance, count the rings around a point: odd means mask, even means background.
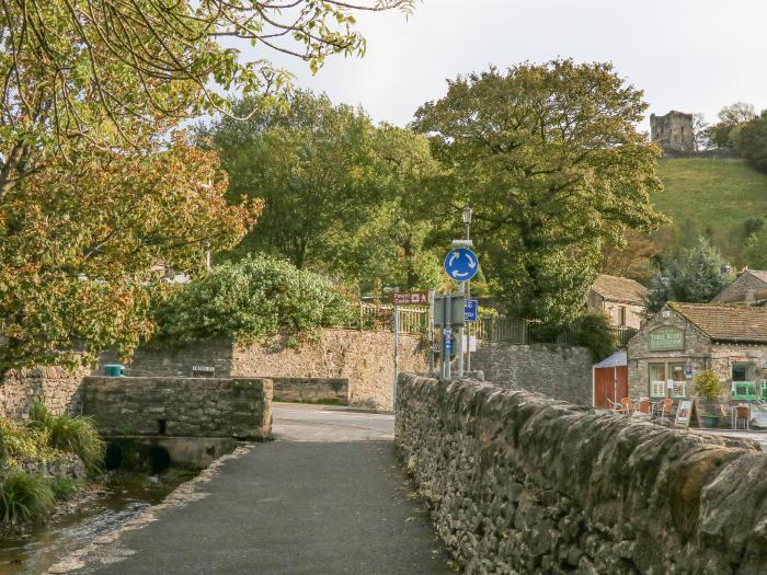
[[[249,344],[281,331],[311,334],[352,317],[351,301],[329,279],[265,255],[216,266],[154,312],[158,342],[172,346],[216,336]]]

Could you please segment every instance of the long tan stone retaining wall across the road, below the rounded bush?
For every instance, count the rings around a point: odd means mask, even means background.
[[[421,336],[400,335],[400,371],[427,371],[427,348]],[[101,364],[115,359],[105,354]],[[350,403],[385,410],[392,406],[393,337],[387,332],[324,330],[318,341],[299,346],[290,346],[285,336],[247,347],[225,340],[181,349],[145,346],[136,352],[125,375],[191,377],[194,366],[214,367],[217,377],[343,378],[348,380]],[[312,392],[308,390],[308,394]],[[275,394],[279,396],[277,391]]]

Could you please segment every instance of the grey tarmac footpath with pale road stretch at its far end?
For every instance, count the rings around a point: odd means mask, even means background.
[[[94,574],[453,573],[394,459],[393,416],[276,404],[276,441],[226,461],[209,494],[126,532]]]

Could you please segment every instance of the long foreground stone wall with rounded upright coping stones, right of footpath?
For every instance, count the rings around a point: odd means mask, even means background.
[[[401,376],[396,441],[467,573],[764,573],[767,455],[473,381]]]

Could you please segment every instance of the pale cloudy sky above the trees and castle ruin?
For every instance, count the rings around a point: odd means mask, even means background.
[[[443,96],[446,79],[560,56],[611,61],[644,91],[648,115],[700,112],[712,123],[737,101],[767,107],[766,22],[764,0],[422,0],[408,19],[362,14],[362,59],[334,56],[312,76],[295,58],[270,57],[298,87],[399,126]],[[254,56],[265,53],[243,50]]]

